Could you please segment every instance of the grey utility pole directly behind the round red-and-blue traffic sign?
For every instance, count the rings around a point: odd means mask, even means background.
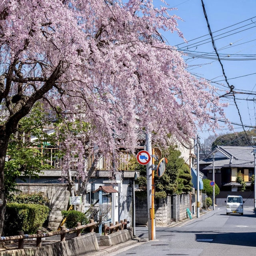
[[[151,133],[146,132],[146,151],[152,154],[152,146],[151,146]],[[151,223],[151,217],[154,219],[154,205],[152,206],[152,157],[150,162],[146,165],[147,168],[147,203],[148,203],[148,238],[153,240],[156,238],[156,229],[155,225]],[[153,214],[151,214],[151,211]],[[152,216],[151,216],[152,215]],[[153,220],[154,221],[154,220]],[[153,222],[154,223],[154,222]],[[152,228],[151,228],[152,226]],[[153,232],[151,232],[151,230]],[[153,233],[151,235],[151,233]]]

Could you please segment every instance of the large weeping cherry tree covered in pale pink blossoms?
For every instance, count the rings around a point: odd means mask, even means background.
[[[136,129],[188,141],[212,112],[215,90],[186,71],[161,31],[177,32],[177,16],[152,0],[0,1],[0,233],[4,162],[10,134],[34,103],[92,126],[101,152],[136,147]],[[122,142],[120,141],[120,144]],[[95,150],[95,147],[94,147]]]

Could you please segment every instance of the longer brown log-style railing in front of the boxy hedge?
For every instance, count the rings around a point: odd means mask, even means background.
[[[62,226],[60,231],[42,233],[42,230],[37,230],[36,234],[31,235],[24,234],[23,231],[20,231],[18,236],[1,236],[0,241],[5,242],[11,240],[18,240],[18,249],[23,249],[24,239],[36,238],[36,247],[41,247],[42,238],[44,237],[60,235],[60,241],[62,242],[66,240],[66,234],[69,232],[76,231],[76,236],[81,236],[81,230],[84,228],[90,228],[90,232],[94,232],[94,226],[96,226],[96,224],[97,222],[94,222],[94,220],[90,220],[90,223],[86,225],[81,225],[81,223],[78,222],[75,228],[66,228],[65,226]]]

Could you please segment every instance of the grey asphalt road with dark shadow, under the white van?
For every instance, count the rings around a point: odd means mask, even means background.
[[[148,237],[147,228],[136,228],[136,235]],[[110,255],[255,256],[256,214],[252,207],[245,207],[243,216],[226,215],[225,207],[216,207],[180,226],[156,228],[155,241],[138,243]]]

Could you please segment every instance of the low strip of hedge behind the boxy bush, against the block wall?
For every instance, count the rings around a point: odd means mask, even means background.
[[[11,194],[8,196],[8,202],[20,204],[47,204],[49,199],[43,192],[34,192],[31,194],[20,193],[18,195]]]

